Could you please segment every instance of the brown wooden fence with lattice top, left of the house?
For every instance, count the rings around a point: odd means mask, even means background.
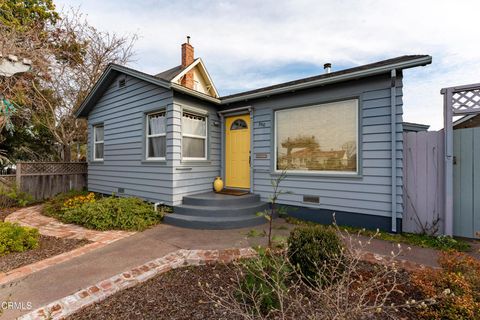
[[[18,190],[43,200],[87,186],[86,162],[20,162],[15,176],[0,176],[4,185],[14,182]]]

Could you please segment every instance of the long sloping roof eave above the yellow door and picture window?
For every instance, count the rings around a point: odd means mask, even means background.
[[[298,84],[292,84],[290,86],[282,87],[282,88],[275,88],[275,89],[270,89],[262,92],[254,92],[251,94],[245,94],[245,95],[240,95],[237,97],[232,97],[232,98],[226,98],[220,100],[222,101],[222,104],[229,104],[233,102],[238,102],[238,101],[245,101],[245,100],[251,100],[251,99],[256,99],[256,98],[262,98],[265,96],[271,96],[275,94],[281,94],[281,93],[286,93],[286,92],[291,92],[291,91],[296,91],[296,90],[302,90],[302,89],[308,89],[316,86],[321,86],[321,85],[327,85],[327,84],[332,84],[336,82],[342,82],[342,81],[348,81],[348,80],[353,80],[353,79],[358,79],[358,78],[363,78],[363,77],[368,77],[368,76],[374,76],[377,74],[382,74],[386,72],[390,72],[393,69],[408,69],[408,68],[413,68],[413,67],[419,67],[419,66],[425,66],[432,63],[432,57],[431,56],[426,56],[426,57],[421,57],[417,59],[412,59],[409,61],[403,61],[403,62],[397,62],[397,63],[392,63],[389,65],[381,66],[381,67],[375,67],[367,70],[360,70],[352,73],[347,73],[347,74],[341,74],[338,76],[333,76],[330,78],[325,78],[325,79],[318,79],[318,80],[312,80],[309,82],[304,82],[304,83],[298,83]]]

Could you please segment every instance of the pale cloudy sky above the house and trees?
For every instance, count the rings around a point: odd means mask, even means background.
[[[480,82],[480,1],[56,0],[105,31],[136,33],[131,67],[180,63],[192,37],[220,95],[404,54],[433,63],[404,73],[404,120],[442,125],[440,89]]]

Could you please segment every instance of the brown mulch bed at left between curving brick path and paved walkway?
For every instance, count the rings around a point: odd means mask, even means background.
[[[8,272],[74,250],[89,243],[91,242],[85,239],[61,239],[40,235],[37,248],[0,256],[0,272]]]

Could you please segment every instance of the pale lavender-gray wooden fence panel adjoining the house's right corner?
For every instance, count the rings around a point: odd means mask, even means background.
[[[403,134],[403,231],[443,233],[443,130]]]

